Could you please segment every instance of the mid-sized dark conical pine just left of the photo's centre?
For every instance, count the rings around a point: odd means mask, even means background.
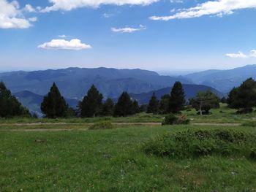
[[[134,106],[132,99],[127,92],[121,93],[115,105],[114,116],[126,117],[134,114]]]

